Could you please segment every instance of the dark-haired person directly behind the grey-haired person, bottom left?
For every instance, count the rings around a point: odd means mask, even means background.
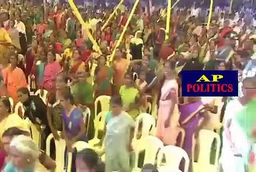
[[[28,131],[24,130],[19,130],[19,128],[9,128],[6,130],[3,134],[3,137],[1,138],[2,143],[4,145],[4,151],[5,151],[5,156],[1,156],[3,158],[3,161],[0,161],[0,170],[10,161],[10,143],[12,138],[14,138],[17,135],[27,135],[30,136],[30,133]],[[45,168],[48,170],[54,170],[56,167],[56,163],[52,160],[52,158],[49,158],[43,151],[40,150],[40,155],[39,155],[39,163],[41,163]],[[1,168],[1,163],[4,165]]]

